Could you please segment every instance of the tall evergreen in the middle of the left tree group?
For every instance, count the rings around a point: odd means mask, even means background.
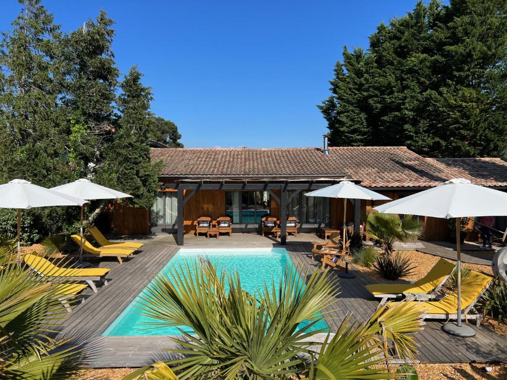
[[[75,176],[86,177],[100,166],[105,147],[112,142],[119,70],[111,45],[114,21],[101,10],[71,32],[61,44],[65,62],[63,103],[68,107],[67,135],[70,164]]]

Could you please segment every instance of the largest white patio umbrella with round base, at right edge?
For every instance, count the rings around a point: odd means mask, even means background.
[[[461,249],[460,218],[468,216],[507,215],[507,193],[454,178],[441,186],[375,207],[388,214],[412,214],[436,218],[456,218],[456,252],[458,274],[457,322],[444,325],[444,330],[458,336],[474,336],[472,327],[461,324]]]

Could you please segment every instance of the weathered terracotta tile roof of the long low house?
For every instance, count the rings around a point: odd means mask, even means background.
[[[429,187],[455,177],[487,186],[507,186],[507,164],[499,159],[427,159],[404,146],[198,149],[152,148],[163,161],[161,175],[177,177],[304,177],[347,175],[368,187]]]

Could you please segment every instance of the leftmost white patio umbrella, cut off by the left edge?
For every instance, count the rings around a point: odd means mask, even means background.
[[[82,206],[87,201],[34,185],[24,179],[13,179],[0,185],[0,208],[15,208],[18,214],[18,257],[20,262],[21,209],[49,206]]]

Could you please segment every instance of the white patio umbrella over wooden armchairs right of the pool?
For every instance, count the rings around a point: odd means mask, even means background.
[[[375,193],[370,189],[359,186],[351,181],[341,181],[336,185],[320,188],[310,193],[305,194],[307,197],[325,197],[325,198],[343,198],[343,248],[342,253],[345,253],[345,239],[346,239],[346,215],[347,215],[347,199],[366,199],[370,201],[389,201],[390,198],[382,194]],[[340,274],[341,277],[353,277],[352,274],[346,276]]]

